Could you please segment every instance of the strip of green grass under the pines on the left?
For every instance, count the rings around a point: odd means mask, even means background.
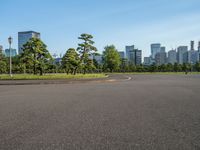
[[[12,77],[9,75],[0,75],[0,80],[59,80],[59,79],[90,79],[90,78],[105,78],[105,74],[46,74],[43,76],[32,74],[15,74]]]

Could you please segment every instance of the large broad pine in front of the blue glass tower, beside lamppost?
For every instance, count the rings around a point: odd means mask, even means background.
[[[43,75],[45,65],[52,59],[47,46],[38,38],[31,38],[23,45],[21,60],[26,66],[33,69],[33,73]]]

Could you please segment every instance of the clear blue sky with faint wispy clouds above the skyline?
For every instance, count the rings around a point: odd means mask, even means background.
[[[37,31],[51,54],[76,48],[78,36],[89,33],[101,53],[113,44],[150,55],[150,44],[166,50],[200,41],[200,0],[0,0],[0,45],[19,31]]]

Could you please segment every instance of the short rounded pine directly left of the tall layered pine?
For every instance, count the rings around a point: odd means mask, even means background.
[[[70,71],[73,74],[75,69],[78,67],[79,61],[80,59],[76,50],[70,48],[62,58],[62,66],[66,70],[67,74],[69,74]]]

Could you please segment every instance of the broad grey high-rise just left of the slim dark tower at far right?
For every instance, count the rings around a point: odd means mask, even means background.
[[[179,64],[188,62],[188,47],[187,46],[179,46],[177,48],[177,60]]]

